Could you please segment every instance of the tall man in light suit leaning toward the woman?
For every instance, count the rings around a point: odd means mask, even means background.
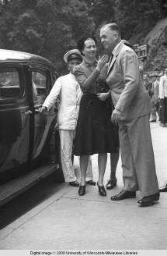
[[[112,120],[119,125],[124,179],[124,189],[111,197],[111,200],[136,197],[136,190],[140,190],[141,200],[138,204],[148,206],[159,199],[149,125],[148,92],[139,74],[137,55],[121,42],[117,24],[103,26],[100,37],[103,47],[111,57],[106,82],[115,106]]]

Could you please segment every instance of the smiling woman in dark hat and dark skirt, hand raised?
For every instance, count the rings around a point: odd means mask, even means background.
[[[106,196],[103,177],[107,152],[119,151],[117,127],[110,121],[111,100],[106,84],[107,55],[96,60],[96,38],[85,37],[78,41],[83,55],[82,64],[75,66],[75,77],[82,89],[82,99],[75,133],[75,155],[80,156],[81,183],[79,195],[85,194],[85,172],[89,155],[98,155],[99,194]]]

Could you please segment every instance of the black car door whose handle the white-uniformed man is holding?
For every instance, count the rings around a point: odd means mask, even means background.
[[[45,98],[50,92],[53,84],[51,70],[45,66],[31,65],[31,81],[33,91],[33,118],[34,118],[34,136],[33,136],[33,160],[40,156],[44,144],[56,122],[56,114],[52,109],[48,115],[39,112]],[[43,159],[41,159],[42,162]]]

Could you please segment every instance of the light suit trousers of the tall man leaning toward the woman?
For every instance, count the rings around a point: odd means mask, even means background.
[[[124,190],[158,193],[149,115],[119,122]]]

